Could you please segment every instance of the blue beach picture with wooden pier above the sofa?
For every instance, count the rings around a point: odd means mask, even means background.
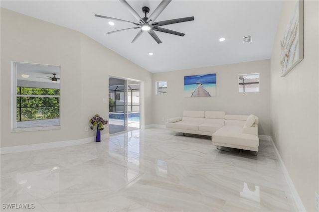
[[[216,74],[184,76],[184,97],[215,97]]]

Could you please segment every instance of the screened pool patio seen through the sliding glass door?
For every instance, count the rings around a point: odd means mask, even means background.
[[[109,78],[110,134],[140,128],[140,82]]]

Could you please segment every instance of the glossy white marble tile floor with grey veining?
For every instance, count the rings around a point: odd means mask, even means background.
[[[297,211],[270,141],[256,157],[161,128],[1,155],[0,187],[1,212]]]

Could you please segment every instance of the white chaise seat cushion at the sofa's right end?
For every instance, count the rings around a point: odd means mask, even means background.
[[[224,143],[237,146],[258,148],[259,138],[257,135],[242,133],[242,127],[226,125],[213,133],[213,143]]]

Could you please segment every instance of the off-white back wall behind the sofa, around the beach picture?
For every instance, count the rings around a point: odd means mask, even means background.
[[[270,60],[186,69],[153,74],[156,81],[167,81],[167,95],[153,97],[156,124],[169,117],[182,116],[183,110],[215,110],[226,114],[259,116],[259,134],[270,135]],[[216,74],[216,97],[187,98],[183,94],[184,76]],[[260,73],[259,93],[239,93],[238,75]]]

